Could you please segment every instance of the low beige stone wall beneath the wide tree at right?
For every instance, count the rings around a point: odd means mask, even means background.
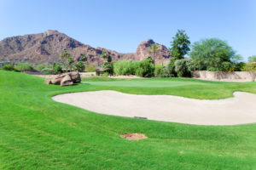
[[[254,82],[256,81],[256,71],[194,71],[193,77],[202,80],[225,82]]]

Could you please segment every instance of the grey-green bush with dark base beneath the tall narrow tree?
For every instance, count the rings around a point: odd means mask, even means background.
[[[194,71],[192,59],[177,59],[174,63],[177,77],[191,77]]]

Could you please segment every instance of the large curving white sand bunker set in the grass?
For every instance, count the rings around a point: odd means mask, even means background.
[[[122,94],[97,91],[61,94],[55,101],[115,116],[199,125],[236,125],[256,122],[256,94],[236,92],[229,99],[188,99],[171,95]]]

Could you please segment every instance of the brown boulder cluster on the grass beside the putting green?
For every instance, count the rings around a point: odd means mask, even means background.
[[[67,72],[61,75],[56,75],[52,80],[45,79],[45,84],[55,84],[61,86],[71,86],[73,83],[81,82],[81,77],[78,72]]]

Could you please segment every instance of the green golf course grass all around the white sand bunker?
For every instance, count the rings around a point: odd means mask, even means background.
[[[72,87],[0,71],[0,169],[256,169],[256,123],[195,126],[84,111],[50,97],[79,91],[222,99],[256,83],[191,79],[85,79]],[[129,141],[120,133],[145,133]]]

